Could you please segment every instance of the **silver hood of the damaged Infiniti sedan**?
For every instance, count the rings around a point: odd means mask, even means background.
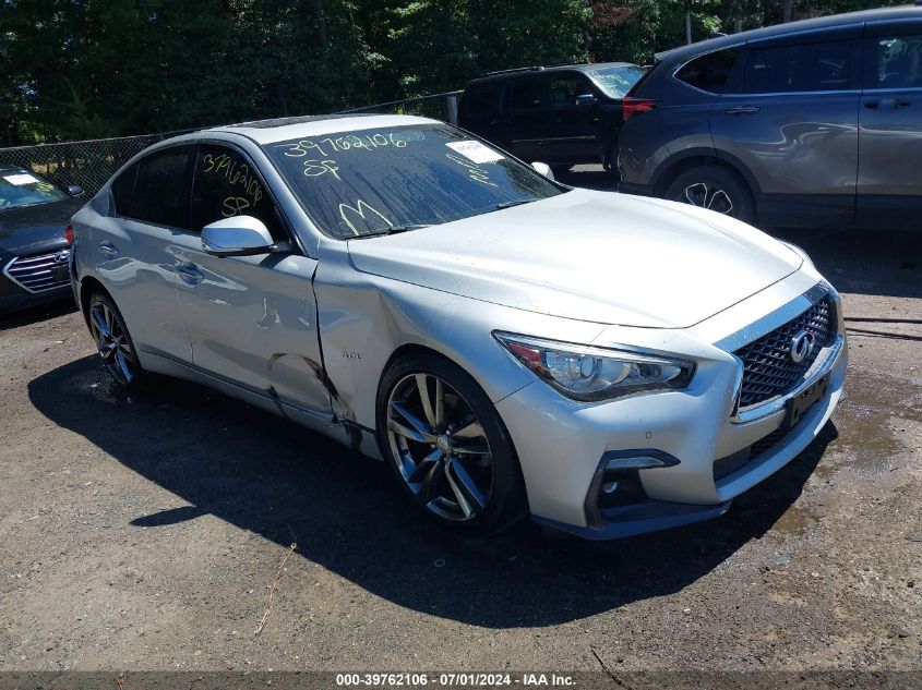
[[[565,194],[394,235],[349,241],[358,270],[565,318],[696,324],[795,271],[792,250],[684,204]]]

